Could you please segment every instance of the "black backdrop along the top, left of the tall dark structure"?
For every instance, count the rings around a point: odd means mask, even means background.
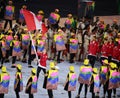
[[[54,11],[55,8],[60,10],[60,15],[62,17],[66,17],[68,13],[77,15],[77,0],[28,0],[26,2],[23,0],[16,0],[14,2],[17,8],[16,12],[18,12],[18,9],[20,9],[23,4],[26,4],[28,9],[34,13],[43,10],[46,17],[48,17],[50,12]]]

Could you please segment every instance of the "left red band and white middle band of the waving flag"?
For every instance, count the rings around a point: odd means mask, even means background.
[[[42,29],[42,22],[39,22],[39,20],[33,12],[23,10],[23,15],[29,31]]]

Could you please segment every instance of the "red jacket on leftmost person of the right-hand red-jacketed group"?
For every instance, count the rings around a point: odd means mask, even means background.
[[[88,54],[90,55],[95,55],[98,52],[99,45],[97,41],[91,41],[89,46],[88,46]]]

